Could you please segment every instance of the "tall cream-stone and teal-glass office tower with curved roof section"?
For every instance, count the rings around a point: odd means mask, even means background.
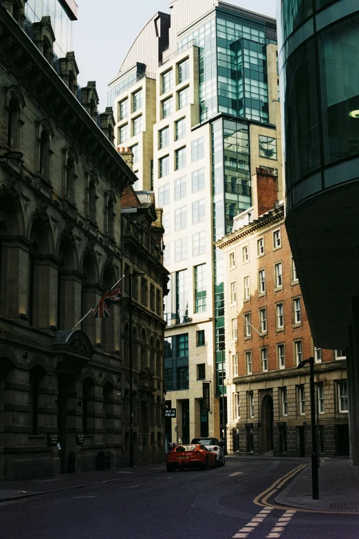
[[[282,171],[276,21],[218,0],[169,8],[131,45],[108,105],[116,145],[133,151],[136,188],[154,189],[164,212],[166,403],[177,410],[166,438],[175,442],[220,434],[224,262],[213,242],[251,206],[251,171],[276,169],[279,198]]]

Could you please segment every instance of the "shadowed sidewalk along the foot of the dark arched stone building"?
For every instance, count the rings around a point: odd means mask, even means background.
[[[113,481],[166,472],[165,464],[144,464],[134,468],[116,468],[107,472],[78,472],[58,477],[21,481],[0,481],[0,504],[4,501],[40,496],[50,492],[81,489],[91,485],[103,485]]]

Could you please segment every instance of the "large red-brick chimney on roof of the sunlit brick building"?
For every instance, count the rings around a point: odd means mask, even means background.
[[[274,208],[278,202],[278,176],[273,169],[257,167],[252,176],[254,219]]]

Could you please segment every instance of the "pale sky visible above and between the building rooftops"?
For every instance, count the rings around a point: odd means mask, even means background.
[[[200,0],[193,0],[200,1]],[[276,0],[227,0],[257,13],[276,16]],[[157,11],[169,13],[170,0],[76,0],[74,52],[80,74],[78,83],[96,81],[99,112],[107,106],[107,83],[120,65],[136,36]]]

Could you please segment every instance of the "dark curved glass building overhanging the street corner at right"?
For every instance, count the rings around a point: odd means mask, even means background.
[[[358,454],[359,6],[280,3],[285,225],[316,346],[348,352]]]

